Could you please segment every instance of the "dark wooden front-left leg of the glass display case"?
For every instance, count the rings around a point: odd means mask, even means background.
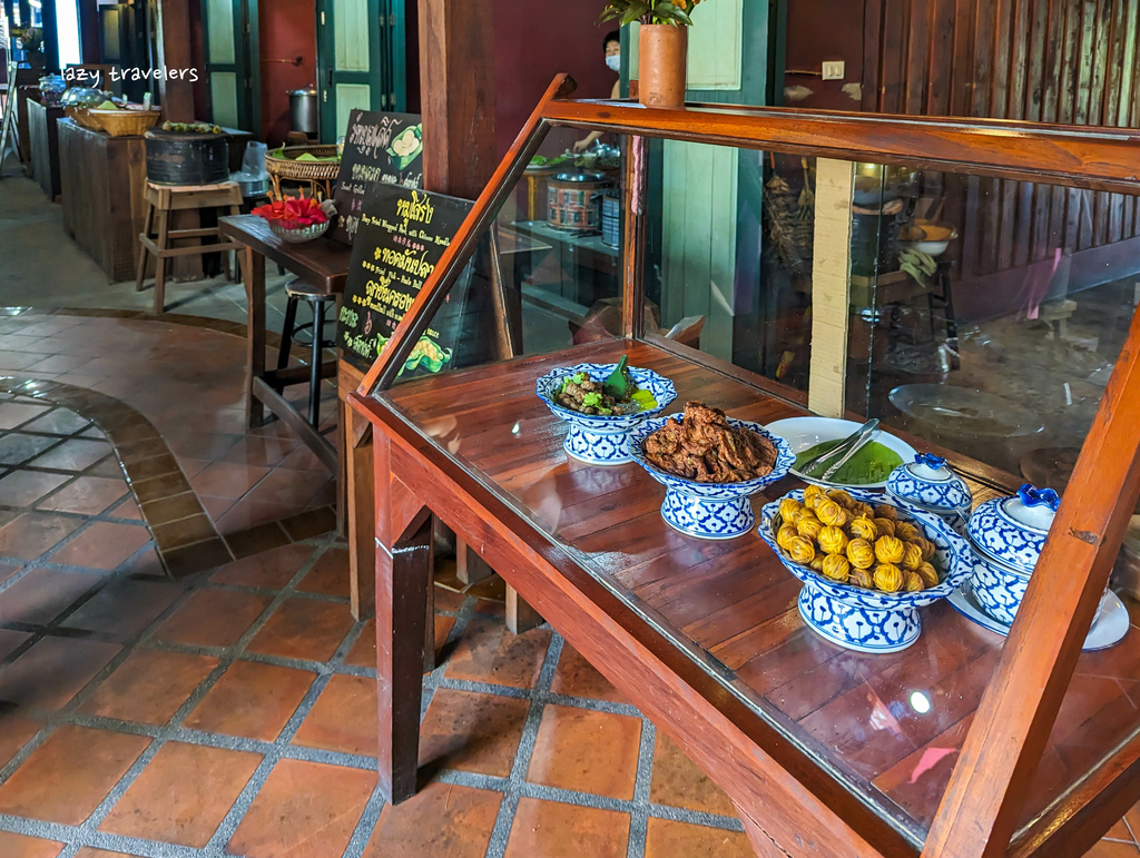
[[[391,548],[376,547],[380,784],[393,804],[416,792],[432,526],[427,515]]]

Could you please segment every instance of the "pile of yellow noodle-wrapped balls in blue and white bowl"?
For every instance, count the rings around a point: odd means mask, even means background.
[[[888,504],[872,507],[841,489],[808,485],[803,502],[780,501],[775,524],[776,545],[790,559],[837,583],[881,593],[938,583],[934,542]]]

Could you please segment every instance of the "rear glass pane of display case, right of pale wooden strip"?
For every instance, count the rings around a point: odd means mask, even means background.
[[[1015,480],[1072,460],[1135,310],[1135,201],[857,172],[848,408]]]

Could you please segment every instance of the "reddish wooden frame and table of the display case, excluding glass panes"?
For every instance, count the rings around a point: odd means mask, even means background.
[[[1132,628],[1121,643],[1082,652],[1140,496],[1140,314],[1106,361],[1107,386],[1096,393],[1094,418],[1009,636],[936,603],[923,608],[913,646],[890,654],[840,649],[816,635],[797,606],[799,581],[755,532],[726,541],[685,537],[662,520],[663,490],[636,465],[568,460],[565,430],[536,398],[535,381],[627,354],[630,366],[676,383],[674,411],[692,398],[765,424],[807,414],[801,392],[714,357],[715,342],[698,351],[646,329],[645,283],[654,267],[646,224],[660,214],[646,193],[651,138],[759,152],[765,161],[768,153],[816,160],[814,194],[803,203],[813,209],[815,235],[806,401],[834,415],[845,411],[855,163],[955,173],[982,188],[1024,182],[1048,188],[1039,194],[1121,195],[1129,201],[1123,211],[1134,213],[1134,133],[716,105],[645,109],[560,98],[565,83],[547,91],[349,397],[372,427],[361,461],[375,468],[385,795],[400,801],[416,790],[434,514],[725,790],[759,855],[1083,855],[1140,798],[1140,705],[1130,692],[1140,679],[1140,606],[1129,604]],[[620,333],[396,384],[480,238],[510,226],[516,186],[555,126],[627,136]],[[695,216],[691,227],[703,245],[717,235]],[[692,291],[709,288],[707,276],[686,279]],[[1007,294],[1021,287],[1000,285]],[[1130,295],[1117,303],[1133,316]],[[1050,341],[1040,325],[1015,330],[1017,313],[1004,316],[1009,336],[1028,343],[1027,362],[1044,385],[1051,367],[1042,344]],[[1058,354],[1068,371],[1078,368]],[[987,360],[982,369],[999,392],[1016,393],[1013,361]],[[956,390],[970,384],[958,381]],[[366,435],[357,427],[347,440],[361,444]],[[909,438],[946,456],[976,502],[1020,482],[939,446],[933,433]],[[755,507],[799,484],[787,477]]]

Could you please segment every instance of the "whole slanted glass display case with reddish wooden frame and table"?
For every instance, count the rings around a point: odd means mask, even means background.
[[[645,109],[559,85],[352,398],[384,446],[382,677],[415,637],[401,564],[426,508],[682,743],[758,851],[1081,853],[1140,798],[1134,132]],[[573,155],[589,131],[602,148]],[[516,357],[397,378],[487,236]],[[755,526],[681,532],[644,467],[564,449],[536,382],[621,356],[673,382],[666,414],[700,400],[777,434],[878,418],[909,450],[879,468],[937,455],[975,506],[1057,490],[1012,627],[963,589],[920,607],[904,648],[816,634]],[[795,472],[764,487],[757,518],[803,487]],[[1114,569],[1123,631],[1082,651]],[[382,683],[389,742],[414,729],[412,685]],[[414,769],[399,753],[381,752],[397,799]]]

